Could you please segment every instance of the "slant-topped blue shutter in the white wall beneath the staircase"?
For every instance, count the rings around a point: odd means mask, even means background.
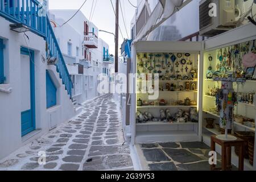
[[[49,76],[48,71],[46,71],[46,103],[47,109],[53,106],[56,106],[56,87],[53,84],[51,77]]]

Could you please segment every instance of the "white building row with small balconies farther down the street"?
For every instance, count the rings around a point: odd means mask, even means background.
[[[114,58],[110,56],[109,45],[98,38],[98,28],[81,11],[65,23],[76,11],[50,10],[49,17],[72,75],[73,102],[82,104],[99,95],[97,76],[106,73],[110,77]]]

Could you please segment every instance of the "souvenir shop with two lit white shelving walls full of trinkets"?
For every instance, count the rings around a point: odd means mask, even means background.
[[[133,143],[213,147],[212,136],[217,143],[242,139],[242,153],[238,144],[227,149],[232,163],[238,166],[242,155],[245,169],[255,167],[256,26],[204,42],[137,42],[132,52],[131,72],[138,75],[131,94]],[[152,90],[157,99],[151,100]],[[221,144],[214,150],[224,151]]]

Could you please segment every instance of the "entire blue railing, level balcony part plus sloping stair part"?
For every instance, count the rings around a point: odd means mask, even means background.
[[[31,32],[42,36],[47,42],[47,55],[58,59],[57,72],[72,97],[73,83],[60,51],[51,23],[46,15],[46,9],[36,0],[0,0],[0,16],[13,23],[22,23]]]

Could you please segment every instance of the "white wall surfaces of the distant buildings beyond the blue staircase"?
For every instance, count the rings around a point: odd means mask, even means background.
[[[51,20],[56,23],[57,27],[54,28],[54,31],[56,38],[59,40],[59,46],[62,53],[67,55],[68,42],[72,43],[72,56],[76,57],[76,63],[79,63],[80,59],[84,59],[84,55],[82,54],[82,42],[84,40],[84,22],[89,22],[88,19],[84,16],[84,14],[81,13],[81,11],[79,11],[79,13],[77,13],[77,15],[71,21],[69,21],[64,26],[59,27],[75,12],[75,10],[50,10],[49,16]],[[98,35],[98,28],[94,26],[93,23],[89,23],[89,32],[92,32],[92,28],[94,28],[95,34]],[[79,56],[76,56],[76,47],[80,47]],[[102,73],[103,68],[112,68],[111,64],[103,63],[103,47],[109,49],[108,43],[98,38],[98,48],[89,49],[89,51],[91,52],[92,68],[84,68],[84,76],[89,77],[89,84],[87,85],[87,87],[82,85],[82,94],[77,96],[79,104],[82,104],[84,101],[90,100],[98,96],[97,76]],[[111,54],[110,50],[109,54]],[[96,65],[96,62],[98,62],[98,65]],[[71,75],[76,75],[76,77],[80,77],[78,76],[77,65],[67,65],[67,67]],[[81,79],[83,80],[85,79],[85,77],[82,77]],[[75,85],[78,84],[75,83]]]

